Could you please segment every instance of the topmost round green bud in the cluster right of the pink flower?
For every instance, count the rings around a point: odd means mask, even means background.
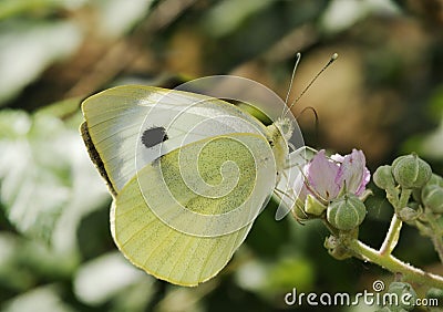
[[[400,156],[392,163],[392,174],[402,188],[421,188],[431,178],[431,166],[415,154]]]

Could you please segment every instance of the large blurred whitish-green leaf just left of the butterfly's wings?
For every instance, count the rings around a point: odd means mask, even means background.
[[[0,112],[0,206],[10,223],[29,237],[74,248],[80,218],[105,198],[79,131],[54,116],[20,111]]]

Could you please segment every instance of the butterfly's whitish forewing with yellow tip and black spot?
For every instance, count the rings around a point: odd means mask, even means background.
[[[82,110],[89,135],[117,193],[138,169],[184,144],[233,132],[266,131],[224,101],[152,86],[109,89],[84,101]],[[157,127],[165,129],[168,139],[162,149],[146,148],[143,133]]]

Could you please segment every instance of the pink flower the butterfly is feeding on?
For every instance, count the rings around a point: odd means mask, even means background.
[[[305,166],[303,174],[305,185],[299,199],[305,201],[311,195],[323,205],[344,191],[362,195],[371,176],[363,152],[357,149],[346,156],[336,154],[330,158],[321,149]]]

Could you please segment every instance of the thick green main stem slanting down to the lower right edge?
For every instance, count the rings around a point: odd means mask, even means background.
[[[379,264],[393,273],[401,273],[405,280],[443,289],[443,277],[424,272],[421,269],[404,263],[392,254],[381,254],[380,251],[364,245],[358,239],[347,241],[347,247],[363,260]]]

